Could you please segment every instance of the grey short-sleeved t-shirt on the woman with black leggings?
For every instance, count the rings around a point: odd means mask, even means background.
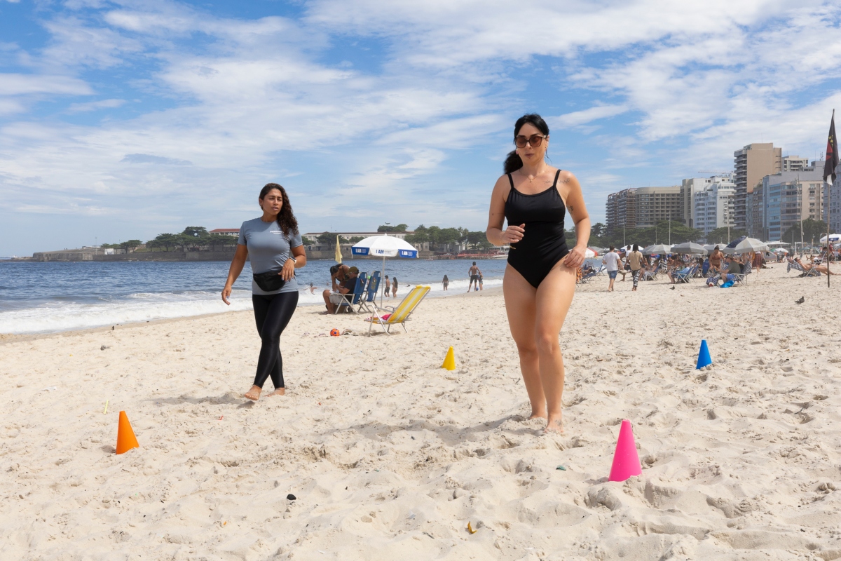
[[[248,249],[248,259],[251,262],[253,273],[266,273],[267,271],[280,273],[283,263],[288,261],[291,248],[304,245],[300,234],[295,233],[293,236],[283,234],[277,220],[263,222],[259,218],[246,220],[242,223],[240,239],[236,243],[240,246],[246,246]],[[251,294],[280,294],[297,291],[298,283],[295,282],[294,277],[287,281],[280,290],[274,292],[261,290],[254,279],[251,279]]]

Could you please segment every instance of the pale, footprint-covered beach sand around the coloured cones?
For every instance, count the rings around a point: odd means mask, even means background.
[[[394,336],[300,308],[257,403],[250,312],[0,341],[0,558],[841,558],[839,281],[793,277],[579,287],[562,436],[523,421],[499,290]],[[643,474],[611,483],[623,418]]]

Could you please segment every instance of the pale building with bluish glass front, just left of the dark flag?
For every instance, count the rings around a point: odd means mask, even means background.
[[[760,237],[779,240],[785,230],[801,220],[822,220],[823,192],[823,161],[812,161],[799,172],[779,172],[763,177],[764,236]]]

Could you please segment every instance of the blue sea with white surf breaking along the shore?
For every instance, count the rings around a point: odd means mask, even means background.
[[[398,297],[415,284],[428,284],[432,297],[465,292],[472,260],[388,259],[385,273],[397,276]],[[502,286],[505,259],[477,260],[484,288]],[[299,305],[324,305],[333,261],[299,268]],[[347,260],[373,273],[383,262]],[[2,262],[0,333],[44,333],[87,329],[191,315],[251,310],[251,267],[234,284],[230,306],[221,291],[230,262]],[[442,278],[450,280],[444,292]],[[309,284],[315,286],[315,294]],[[389,301],[389,300],[386,300]],[[397,299],[391,299],[394,304]]]

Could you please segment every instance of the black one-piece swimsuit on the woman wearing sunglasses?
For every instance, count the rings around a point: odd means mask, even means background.
[[[511,244],[508,264],[517,270],[534,288],[540,286],[553,267],[569,253],[563,236],[566,209],[558,193],[558,176],[546,191],[534,195],[520,193],[514,178],[508,174],[511,191],[505,201],[505,219],[509,225],[525,224],[523,239]]]

